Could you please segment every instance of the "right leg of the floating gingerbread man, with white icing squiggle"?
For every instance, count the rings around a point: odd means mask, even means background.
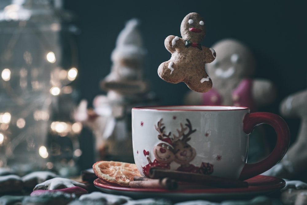
[[[195,72],[191,74],[184,82],[187,84],[189,89],[199,93],[206,93],[212,88],[211,78],[206,72]]]

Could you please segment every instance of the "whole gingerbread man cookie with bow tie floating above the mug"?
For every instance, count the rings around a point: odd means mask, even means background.
[[[206,34],[204,19],[197,13],[186,15],[180,32],[182,38],[173,35],[166,37],[164,45],[172,56],[160,64],[158,75],[166,82],[185,82],[191,90],[208,92],[212,81],[205,71],[205,64],[211,63],[216,53],[200,44]]]

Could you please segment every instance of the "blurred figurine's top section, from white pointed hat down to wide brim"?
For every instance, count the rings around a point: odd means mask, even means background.
[[[148,91],[148,82],[143,81],[147,50],[143,48],[138,24],[137,19],[131,19],[119,34],[111,54],[111,73],[101,81],[103,90],[124,96]]]

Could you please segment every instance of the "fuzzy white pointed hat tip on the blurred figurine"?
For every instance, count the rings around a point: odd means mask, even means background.
[[[119,33],[115,49],[111,53],[111,60],[118,61],[122,58],[129,58],[138,61],[146,55],[143,48],[143,39],[138,30],[139,20],[133,18],[126,23],[125,28]]]

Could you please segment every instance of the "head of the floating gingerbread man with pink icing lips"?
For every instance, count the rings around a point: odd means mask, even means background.
[[[204,19],[197,13],[190,13],[181,22],[180,31],[183,39],[201,42],[206,34]]]

